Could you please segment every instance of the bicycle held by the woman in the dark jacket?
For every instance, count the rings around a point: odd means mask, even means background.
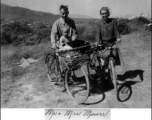
[[[93,61],[97,60],[97,62],[99,63],[100,69],[102,71],[104,71],[103,74],[106,73],[107,76],[110,76],[110,79],[111,79],[111,81],[113,82],[113,85],[114,85],[116,96],[118,98],[117,74],[116,74],[116,71],[115,71],[115,58],[114,58],[114,55],[113,55],[113,50],[114,50],[113,46],[115,44],[117,44],[117,42],[112,43],[112,44],[107,44],[107,45],[95,45],[94,47],[92,47],[92,51],[93,51],[92,58],[90,59],[90,63],[87,65],[87,69],[88,69],[89,77],[91,79],[93,79],[91,77],[91,73],[92,72],[97,73],[97,68],[95,66],[92,66],[92,63],[93,63]],[[109,54],[108,58],[104,61],[104,65],[103,65],[102,55],[108,50],[110,51],[110,54]],[[105,69],[107,69],[108,72],[105,72]]]

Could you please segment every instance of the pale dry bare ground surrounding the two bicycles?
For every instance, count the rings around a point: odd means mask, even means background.
[[[125,63],[124,77],[130,82],[131,97],[125,102],[116,99],[114,90],[103,95],[94,95],[89,104],[75,103],[67,92],[60,92],[46,75],[44,60],[26,69],[17,69],[5,64],[1,58],[1,107],[2,108],[150,108],[151,107],[151,34],[134,32],[122,36],[121,52]],[[12,54],[10,49],[2,49],[1,57]],[[14,71],[15,70],[15,71]],[[143,80],[139,74],[143,72]],[[122,77],[120,67],[117,72]],[[102,100],[101,100],[102,99]]]

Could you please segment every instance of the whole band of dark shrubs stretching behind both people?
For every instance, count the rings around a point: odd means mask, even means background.
[[[129,34],[133,30],[142,28],[139,27],[143,24],[148,24],[150,21],[144,17],[134,18],[133,20],[118,19],[118,30],[120,34]],[[93,42],[95,40],[95,22],[94,20],[77,21],[78,39]],[[2,24],[1,29],[1,44],[26,44],[35,45],[41,42],[50,40],[51,33],[50,27],[46,27],[44,23],[36,22],[31,27],[28,22],[14,21],[13,23]],[[151,28],[149,29],[151,30]]]

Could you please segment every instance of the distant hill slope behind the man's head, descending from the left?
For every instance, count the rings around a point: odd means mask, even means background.
[[[91,18],[86,15],[69,15],[73,19],[86,19]],[[46,13],[41,11],[34,11],[22,7],[13,7],[1,3],[1,19],[28,19],[32,21],[41,21],[52,24],[60,16],[52,13]]]

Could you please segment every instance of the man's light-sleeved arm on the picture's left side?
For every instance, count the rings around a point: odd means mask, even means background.
[[[52,30],[51,30],[51,44],[52,44],[52,48],[56,48],[56,39],[57,39],[58,35],[57,35],[57,24],[56,22],[54,22]]]

